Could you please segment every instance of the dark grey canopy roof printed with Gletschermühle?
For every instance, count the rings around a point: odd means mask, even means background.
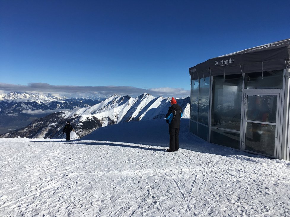
[[[272,71],[290,64],[290,38],[209,59],[189,68],[191,80],[211,75]]]

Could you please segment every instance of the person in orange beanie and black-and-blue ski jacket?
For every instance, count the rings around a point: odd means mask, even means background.
[[[176,103],[174,97],[172,97],[171,106],[165,116],[166,123],[169,124],[169,149],[166,151],[174,152],[179,149],[179,129],[180,129],[180,118],[182,117],[182,109]]]

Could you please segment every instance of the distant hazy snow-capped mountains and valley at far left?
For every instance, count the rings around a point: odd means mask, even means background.
[[[0,95],[0,134],[27,126],[37,118],[61,110],[85,108],[99,100],[11,92]]]

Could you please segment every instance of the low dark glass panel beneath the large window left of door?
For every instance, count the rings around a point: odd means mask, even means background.
[[[211,128],[211,142],[231,148],[240,148],[240,133]]]

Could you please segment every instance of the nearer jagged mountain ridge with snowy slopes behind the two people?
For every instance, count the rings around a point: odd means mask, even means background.
[[[90,134],[93,130],[111,124],[129,121],[162,119],[170,106],[171,98],[154,97],[144,93],[136,98],[117,94],[93,106],[75,111],[60,111],[39,118],[20,130],[0,137],[60,138],[66,121],[70,121],[78,137]],[[190,98],[176,99],[183,109],[184,117],[189,117]]]

